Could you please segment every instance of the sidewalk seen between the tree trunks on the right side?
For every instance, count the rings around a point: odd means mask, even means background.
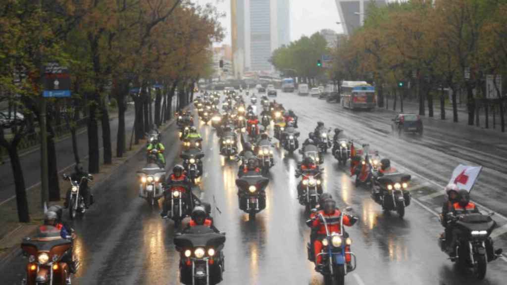
[[[425,115],[424,116],[421,116],[423,118],[427,118],[428,120],[438,120],[438,121],[443,121],[443,122],[450,122],[450,123],[454,123],[453,122],[453,110],[452,110],[452,105],[450,104],[446,104],[445,105],[445,116],[446,116],[446,119],[445,120],[442,120],[440,119],[440,101],[433,101],[433,117],[428,117],[428,113],[429,113],[429,110],[428,110],[428,106],[427,106],[427,102],[425,101],[424,102],[425,104]],[[392,106],[393,106],[393,100],[390,99],[389,100],[389,109],[385,109],[383,108],[384,110],[389,110],[389,111],[393,111],[392,110]],[[400,106],[400,100],[398,100],[396,102],[396,110],[393,111],[393,112],[396,112],[396,113],[400,113],[400,110],[401,110],[401,106]],[[493,128],[493,114],[490,112],[489,114],[489,128],[486,129],[486,116],[484,115],[484,112],[481,112],[479,114],[479,122],[480,122],[480,125],[479,126],[476,126],[475,124],[473,126],[470,126],[468,125],[468,111],[467,111],[467,108],[466,108],[466,105],[465,104],[462,104],[461,106],[458,105],[458,122],[457,123],[454,123],[454,124],[459,124],[459,125],[462,125],[462,126],[466,126],[466,127],[469,127],[470,129],[481,129],[481,130],[490,130],[490,131],[494,131],[494,132],[498,132],[498,133],[502,133],[501,132],[501,125],[500,125],[500,114],[499,113],[496,113],[496,126],[495,128]],[[483,111],[483,110],[481,110]],[[507,112],[507,110],[505,110]],[[414,114],[419,114],[419,102],[415,102],[415,101],[403,101],[403,112],[404,113],[414,113]],[[507,118],[505,118],[507,120]],[[474,122],[475,123],[475,122]],[[506,129],[507,129],[507,126],[506,126]],[[505,134],[507,134],[507,131],[505,132]]]

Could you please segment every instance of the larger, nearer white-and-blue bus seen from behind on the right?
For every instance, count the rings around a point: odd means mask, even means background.
[[[366,81],[343,81],[340,87],[343,108],[372,110],[376,105],[375,87]]]

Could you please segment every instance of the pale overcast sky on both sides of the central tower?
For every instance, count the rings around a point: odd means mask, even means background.
[[[221,12],[226,13],[222,19],[222,26],[226,30],[224,43],[231,44],[231,1],[230,0],[193,0],[199,4],[212,3]],[[240,0],[242,1],[242,0]],[[290,0],[291,1],[291,41],[298,40],[302,35],[324,28],[334,29],[341,33],[342,28],[336,22],[340,21],[336,2],[334,0]]]

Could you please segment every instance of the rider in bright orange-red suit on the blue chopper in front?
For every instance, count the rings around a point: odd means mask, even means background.
[[[346,237],[346,233],[341,233],[340,216],[342,215],[340,209],[336,207],[336,202],[333,199],[327,199],[324,201],[323,209],[316,212],[313,219],[307,221],[307,225],[317,230],[316,238],[313,242],[313,250],[315,254],[315,267],[317,270],[322,269],[322,256],[319,255],[322,251],[322,239],[327,236],[327,232],[343,234]],[[327,224],[324,224],[324,221]],[[343,215],[343,224],[345,226],[352,226],[357,222],[357,218],[349,215]],[[350,252],[350,245],[345,247],[346,252]],[[347,265],[350,263],[350,255],[345,255],[345,261]]]

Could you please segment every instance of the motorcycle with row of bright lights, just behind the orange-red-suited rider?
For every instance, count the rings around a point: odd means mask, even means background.
[[[297,186],[300,190],[303,190],[301,191],[301,195],[299,195],[300,191],[298,191],[298,200],[301,205],[306,207],[307,212],[317,207],[319,197],[322,195],[321,174],[322,169],[319,171],[308,171],[306,173],[298,171],[296,173],[296,178],[303,176]]]

